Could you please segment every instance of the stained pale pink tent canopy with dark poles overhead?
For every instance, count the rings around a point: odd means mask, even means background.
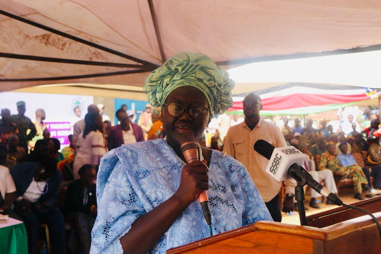
[[[0,92],[77,83],[142,87],[163,58],[182,51],[205,53],[228,69],[271,57],[381,42],[379,0],[152,0],[157,31],[150,2],[0,1],[0,11],[88,42],[0,14],[0,52],[18,55],[0,56]],[[25,56],[87,64],[18,59]],[[136,70],[140,72],[131,73]]]

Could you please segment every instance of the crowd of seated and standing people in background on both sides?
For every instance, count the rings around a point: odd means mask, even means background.
[[[74,124],[74,134],[68,137],[70,145],[61,152],[59,140],[50,137],[44,124],[42,109],[36,111],[35,122],[24,116],[23,101],[17,103],[17,115],[2,109],[0,212],[24,221],[29,253],[35,253],[40,223],[49,228],[51,253],[89,253],[97,215],[95,182],[102,156],[123,144],[165,137],[160,108],[152,110],[147,104],[138,124],[134,124],[134,115],[123,106],[115,113],[120,122],[115,126],[102,114],[103,105],[88,106],[85,118]],[[325,121],[320,130],[312,128],[312,121],[304,128],[298,118],[294,121],[291,128],[285,118],[280,127],[285,143],[305,154],[305,169],[319,182],[324,181],[331,192],[338,193],[335,180],[339,178],[352,180],[356,199],[381,189],[378,119],[362,133],[357,132],[357,125],[351,125],[353,130],[347,135],[333,132]],[[234,115],[228,125],[240,122]],[[223,151],[224,137],[215,129],[213,135],[206,133],[208,148]],[[205,140],[200,144],[206,146]],[[319,208],[318,197],[311,191],[311,207]]]

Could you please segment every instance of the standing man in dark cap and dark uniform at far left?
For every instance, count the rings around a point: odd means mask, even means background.
[[[19,133],[17,133],[17,136],[19,137],[19,146],[24,148],[24,150],[27,152],[28,141],[36,135],[37,130],[32,121],[30,121],[30,119],[24,115],[26,111],[25,102],[18,101],[16,105],[17,111],[19,113],[17,115],[11,116],[11,122],[15,123],[19,129]],[[26,133],[28,129],[30,129],[29,134]]]

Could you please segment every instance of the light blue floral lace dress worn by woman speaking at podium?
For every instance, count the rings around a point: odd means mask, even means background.
[[[122,145],[101,159],[97,178],[98,216],[90,253],[123,253],[120,237],[140,216],[170,198],[179,188],[183,165],[163,139]],[[259,220],[270,220],[258,189],[245,167],[212,150],[209,190],[213,235]],[[209,227],[198,201],[192,203],[150,253],[208,237]]]

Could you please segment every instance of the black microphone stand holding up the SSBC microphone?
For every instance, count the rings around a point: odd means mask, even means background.
[[[295,186],[295,200],[298,202],[300,225],[307,226],[306,209],[304,208],[304,200],[306,197],[304,196],[303,190],[303,186],[307,184],[307,178],[306,174],[300,174],[300,170],[309,174],[303,167],[296,163],[292,164],[287,172],[297,183]]]

